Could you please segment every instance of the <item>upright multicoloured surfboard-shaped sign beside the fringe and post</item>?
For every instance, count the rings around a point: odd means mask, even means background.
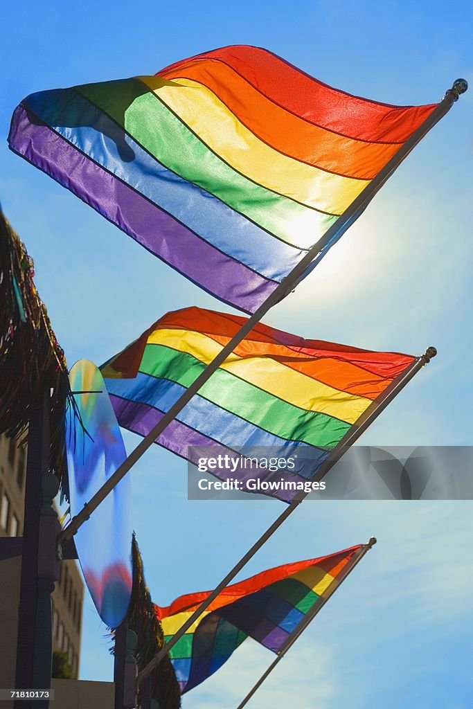
[[[93,362],[79,359],[69,372],[76,411],[66,415],[71,515],[77,515],[126,459],[125,445],[104,379]],[[131,484],[125,476],[75,535],[84,579],[101,620],[118,627],[130,602]]]

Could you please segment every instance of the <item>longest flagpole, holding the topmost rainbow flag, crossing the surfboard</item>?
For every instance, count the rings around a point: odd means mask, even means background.
[[[448,89],[440,104],[438,104],[435,111],[433,111],[430,116],[419,126],[419,128],[411,135],[411,138],[406,140],[406,143],[402,145],[396,154],[391,157],[391,160],[386,163],[384,168],[377,174],[374,179],[365,187],[365,189],[357,196],[357,198],[350,204],[350,206],[343,212],[342,215],[336,220],[336,222],[328,229],[328,231],[323,235],[323,237],[318,240],[318,242],[313,245],[313,247],[308,250],[303,259],[299,264],[292,269],[289,275],[277,286],[272,294],[265,300],[264,303],[257,309],[253,315],[248,318],[244,325],[238,330],[230,342],[222,348],[221,352],[206,366],[204,372],[202,372],[197,379],[189,386],[189,388],[184,391],[182,396],[174,403],[174,405],[169,408],[169,411],[165,413],[162,419],[150,430],[150,432],[145,435],[143,440],[138,444],[138,446],[133,450],[128,458],[123,461],[123,463],[116,469],[113,475],[106,481],[106,483],[98,490],[95,495],[89,500],[89,502],[84,505],[84,508],[75,515],[71,520],[66,529],[61,532],[57,537],[57,553],[60,555],[60,549],[67,540],[74,536],[79,527],[89,519],[90,515],[99,504],[106,498],[108,493],[110,493],[113,488],[121,481],[123,476],[125,476],[131,467],[140,459],[140,457],[145,453],[150,445],[155,442],[156,438],[165,430],[167,425],[177,416],[179,411],[182,411],[184,406],[191,400],[195,393],[201,389],[209,377],[216,372],[218,367],[220,367],[227,357],[233,352],[235,347],[243,340],[243,338],[250,333],[250,331],[260,322],[260,320],[266,315],[272,306],[276,305],[281,298],[284,298],[294,286],[299,282],[301,277],[304,276],[306,269],[310,266],[311,262],[321,251],[331,242],[340,238],[340,236],[345,233],[347,228],[362,214],[369,202],[373,199],[377,191],[383,186],[386,180],[391,177],[391,174],[399,167],[401,162],[409,155],[413,147],[419,143],[420,140],[428,133],[428,131],[433,128],[433,126],[443,118],[445,114],[450,111],[455,101],[458,100],[460,94],[464,94],[467,91],[468,84],[465,79],[457,79],[451,89]]]

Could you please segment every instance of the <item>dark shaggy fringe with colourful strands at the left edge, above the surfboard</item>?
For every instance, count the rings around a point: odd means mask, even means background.
[[[33,277],[33,260],[0,211],[0,433],[25,445],[31,412],[49,388],[50,470],[65,483],[67,364]]]

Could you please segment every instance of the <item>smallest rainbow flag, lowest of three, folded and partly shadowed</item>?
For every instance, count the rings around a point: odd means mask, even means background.
[[[247,637],[279,652],[306,613],[335,591],[360,549],[284,564],[228,586],[169,650],[182,693],[216,672]],[[210,593],[189,593],[167,608],[155,606],[165,642]]]

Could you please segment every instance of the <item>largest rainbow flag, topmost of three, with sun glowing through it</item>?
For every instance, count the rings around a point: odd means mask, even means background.
[[[234,46],[155,76],[31,94],[13,113],[9,145],[251,313],[436,105],[361,99],[272,52]]]

